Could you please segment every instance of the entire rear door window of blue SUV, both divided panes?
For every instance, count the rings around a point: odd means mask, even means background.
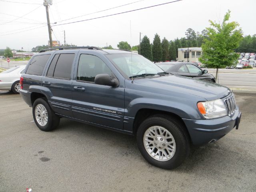
[[[70,79],[75,54],[56,54],[49,66],[47,76]]]

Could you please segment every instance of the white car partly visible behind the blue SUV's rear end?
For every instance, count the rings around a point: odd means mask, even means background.
[[[26,65],[16,66],[0,73],[0,90],[20,93],[20,76]]]

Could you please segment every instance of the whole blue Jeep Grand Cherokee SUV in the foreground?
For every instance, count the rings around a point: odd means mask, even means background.
[[[138,67],[134,74],[128,63]],[[64,117],[136,135],[142,156],[165,169],[179,166],[192,144],[208,144],[237,129],[241,117],[229,88],[171,75],[124,50],[42,50],[20,84],[40,130],[53,130]]]

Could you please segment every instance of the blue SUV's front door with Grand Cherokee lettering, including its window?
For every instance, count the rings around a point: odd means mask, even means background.
[[[114,75],[108,66],[95,55],[80,54],[76,70],[72,83],[74,118],[123,129],[124,88],[94,84],[97,74]]]

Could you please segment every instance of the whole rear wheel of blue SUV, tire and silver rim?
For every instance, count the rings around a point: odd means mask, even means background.
[[[34,122],[42,131],[53,130],[60,123],[60,117],[54,113],[48,102],[43,98],[35,100],[32,111]]]

